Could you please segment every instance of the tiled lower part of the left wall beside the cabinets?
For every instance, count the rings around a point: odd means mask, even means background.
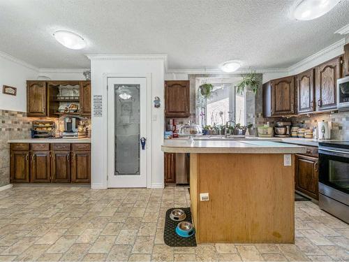
[[[30,138],[31,119],[27,112],[0,110],[0,187],[10,184],[9,139]]]

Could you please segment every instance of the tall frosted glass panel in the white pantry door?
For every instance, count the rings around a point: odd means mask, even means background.
[[[140,175],[140,85],[114,85],[114,175]]]

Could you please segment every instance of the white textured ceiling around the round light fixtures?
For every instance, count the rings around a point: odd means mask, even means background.
[[[0,0],[0,51],[39,68],[87,68],[84,54],[168,54],[168,68],[285,68],[343,38],[349,1],[300,22],[299,0]],[[68,50],[52,33],[87,42]]]

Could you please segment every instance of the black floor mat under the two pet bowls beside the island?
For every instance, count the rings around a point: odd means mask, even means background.
[[[163,240],[166,245],[170,247],[196,247],[196,240],[195,240],[195,234],[192,235],[189,238],[181,238],[176,233],[176,227],[179,223],[179,221],[173,221],[170,219],[170,213],[175,208],[170,208],[168,211],[166,211],[166,218],[165,218],[165,228],[163,231]],[[184,210],[186,213],[186,219],[184,221],[191,222],[191,209],[190,208],[180,208]]]

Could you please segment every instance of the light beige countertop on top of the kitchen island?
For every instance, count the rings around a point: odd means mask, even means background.
[[[165,140],[161,146],[168,153],[231,154],[304,154],[306,147],[260,140]]]

